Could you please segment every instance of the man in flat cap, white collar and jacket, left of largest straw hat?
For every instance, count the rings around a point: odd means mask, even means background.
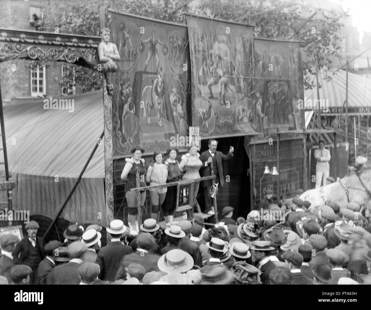
[[[149,251],[154,250],[156,244],[155,238],[146,232],[142,232],[138,235],[137,242],[137,250],[134,253],[125,255],[122,259],[115,280],[126,279],[127,273],[125,268],[129,267],[132,263],[142,265],[146,273],[158,271],[157,261],[161,256],[149,253]]]

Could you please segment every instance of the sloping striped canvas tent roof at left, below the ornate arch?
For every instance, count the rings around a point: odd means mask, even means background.
[[[73,112],[44,109],[41,100],[4,107],[10,172],[79,176],[104,129],[103,96],[98,91],[62,98],[74,100]],[[104,178],[104,141],[83,178]]]

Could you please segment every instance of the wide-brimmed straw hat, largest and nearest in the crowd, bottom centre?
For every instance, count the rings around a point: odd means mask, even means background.
[[[193,258],[187,252],[181,249],[174,249],[162,255],[157,261],[157,266],[161,271],[170,272],[187,272],[193,267]]]

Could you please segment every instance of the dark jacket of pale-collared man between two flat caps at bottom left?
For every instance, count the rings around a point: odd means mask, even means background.
[[[46,278],[46,283],[49,284],[80,284],[78,263],[68,262],[63,265],[56,266],[50,271]]]

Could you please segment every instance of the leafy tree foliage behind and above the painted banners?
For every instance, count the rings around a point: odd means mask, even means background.
[[[303,21],[296,6],[287,6],[282,1],[250,1],[250,0],[199,0],[193,1],[174,14],[180,3],[178,0],[116,0],[92,3],[90,1],[54,1],[53,14],[43,21],[35,20],[33,26],[40,31],[55,31],[99,36],[99,7],[130,14],[136,14],[152,19],[185,24],[184,11],[216,19],[234,21],[253,25],[256,37],[267,39],[288,40],[298,30]],[[272,10],[274,11],[268,11]],[[264,14],[256,13],[264,12]],[[106,13],[106,26],[110,25],[110,16]],[[342,20],[347,14],[334,12],[329,15],[317,14],[293,39],[300,40],[303,59],[304,87],[314,87],[311,75],[315,73],[315,64],[324,73],[326,79],[331,79],[332,63],[341,58],[341,40],[339,31]],[[58,20],[58,24],[55,23]],[[314,27],[314,30],[313,30]],[[70,74],[59,79],[61,86],[71,84]],[[75,70],[76,93],[102,88],[102,76],[87,68]]]

